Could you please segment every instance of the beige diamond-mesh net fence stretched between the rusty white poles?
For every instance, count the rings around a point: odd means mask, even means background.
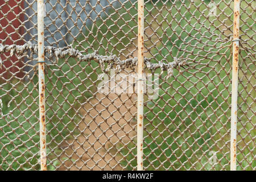
[[[137,1],[44,3],[46,46],[121,60],[137,56]],[[36,5],[0,2],[1,44],[37,43]],[[237,169],[255,170],[256,3],[241,1],[240,7]],[[230,169],[232,36],[231,0],[144,1],[145,57],[189,63],[171,77],[145,68],[160,76],[157,97],[144,97],[144,169]],[[0,170],[39,170],[37,54],[0,56]],[[46,55],[48,170],[136,169],[137,94],[119,86],[101,93],[101,73],[95,60]]]

